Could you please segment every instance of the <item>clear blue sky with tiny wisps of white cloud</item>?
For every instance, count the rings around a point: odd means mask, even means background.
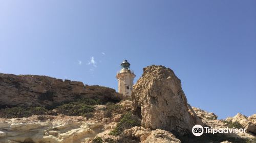
[[[256,113],[256,1],[0,1],[0,73],[117,89],[123,59],[175,71],[191,106]]]

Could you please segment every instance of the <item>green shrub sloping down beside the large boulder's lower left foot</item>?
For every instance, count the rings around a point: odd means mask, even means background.
[[[141,126],[140,119],[132,115],[132,113],[126,113],[117,124],[116,128],[110,132],[110,135],[118,136],[120,135],[125,129],[130,129],[135,126]]]

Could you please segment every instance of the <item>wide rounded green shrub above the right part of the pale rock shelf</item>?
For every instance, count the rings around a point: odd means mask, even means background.
[[[57,113],[70,116],[86,116],[87,113],[94,112],[95,108],[86,104],[63,104],[56,109]]]

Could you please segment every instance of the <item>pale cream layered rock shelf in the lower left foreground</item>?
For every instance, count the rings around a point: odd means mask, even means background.
[[[38,121],[35,116],[12,118],[0,121],[0,142],[80,143],[102,130],[103,124],[86,121],[82,116],[57,116],[52,121]]]

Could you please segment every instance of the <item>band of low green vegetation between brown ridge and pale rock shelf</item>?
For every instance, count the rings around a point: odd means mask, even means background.
[[[42,97],[49,97],[53,93],[48,92]],[[43,99],[41,99],[43,100]],[[29,117],[31,115],[70,115],[70,116],[84,116],[92,118],[94,116],[95,107],[93,105],[102,105],[100,99],[92,98],[77,98],[73,102],[55,104],[51,107],[10,107],[0,109],[0,117],[4,118],[16,118],[16,117]],[[115,104],[108,106],[107,110],[116,110]],[[53,110],[54,109],[54,110]],[[43,118],[41,118],[42,120]]]

